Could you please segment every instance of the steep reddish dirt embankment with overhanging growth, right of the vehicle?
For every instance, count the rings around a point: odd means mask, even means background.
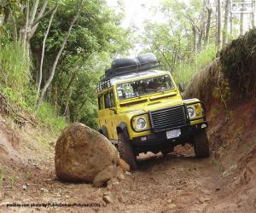
[[[186,97],[207,105],[212,157],[221,175],[222,193],[209,210],[256,210],[255,40],[256,30],[234,40],[186,89]]]

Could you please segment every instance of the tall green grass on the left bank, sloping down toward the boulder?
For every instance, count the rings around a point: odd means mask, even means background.
[[[13,106],[34,114],[39,125],[59,133],[67,125],[65,118],[57,116],[48,103],[34,106],[37,96],[31,81],[31,68],[32,61],[23,54],[21,43],[0,43],[0,92]]]

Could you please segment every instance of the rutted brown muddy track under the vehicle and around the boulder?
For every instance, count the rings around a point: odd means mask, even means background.
[[[10,203],[99,203],[100,208],[8,208],[27,212],[204,212],[221,191],[219,175],[212,158],[197,159],[191,147],[176,147],[174,153],[147,154],[138,157],[139,168],[125,176],[116,189],[122,199],[103,207],[102,194],[107,188],[95,188],[85,183],[61,182],[55,179],[53,158],[48,164],[31,165],[26,169],[33,176],[27,189],[20,185],[6,187],[0,210]],[[24,180],[25,181],[25,180]],[[25,182],[24,182],[25,183]]]

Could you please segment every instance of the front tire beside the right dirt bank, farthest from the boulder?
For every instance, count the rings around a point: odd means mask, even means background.
[[[196,158],[207,158],[210,156],[209,141],[206,130],[201,130],[194,136],[194,150]]]

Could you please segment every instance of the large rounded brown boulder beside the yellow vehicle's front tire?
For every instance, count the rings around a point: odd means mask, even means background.
[[[108,139],[84,124],[69,124],[55,144],[55,173],[61,180],[92,182],[117,160]]]

